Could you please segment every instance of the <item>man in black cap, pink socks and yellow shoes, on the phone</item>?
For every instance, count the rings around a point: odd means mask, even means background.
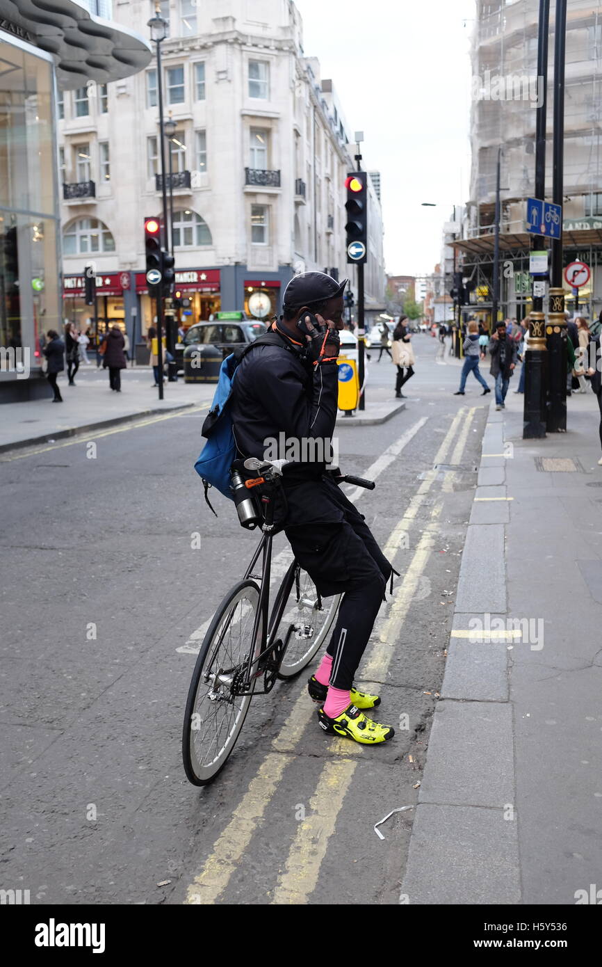
[[[305,272],[289,282],[284,314],[272,322],[282,346],[258,345],[244,356],[233,384],[231,414],[244,457],[266,459],[274,439],[298,448],[301,458],[284,467],[286,507],[278,526],[319,593],[325,598],[344,594],[327,654],[309,679],[309,694],[321,703],[318,719],[325,732],[377,745],[394,731],[363,714],[381,699],[355,689],[354,676],[394,571],[361,514],[326,474],[347,281]]]

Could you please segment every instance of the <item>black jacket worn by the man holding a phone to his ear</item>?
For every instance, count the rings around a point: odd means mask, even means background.
[[[319,480],[327,462],[319,457],[330,459],[338,366],[314,367],[297,349],[287,349],[284,337],[282,342],[256,345],[238,366],[230,410],[234,437],[244,457],[292,459],[285,483]]]

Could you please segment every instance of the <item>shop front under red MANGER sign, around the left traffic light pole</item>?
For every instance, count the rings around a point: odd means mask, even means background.
[[[144,272],[136,272],[135,284],[140,301],[141,335],[145,337],[155,322],[155,301],[149,295]],[[178,327],[186,330],[197,322],[209,322],[221,308],[219,269],[176,271],[174,299],[181,304],[175,310]]]

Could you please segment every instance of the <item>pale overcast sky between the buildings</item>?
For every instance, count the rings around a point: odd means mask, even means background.
[[[474,0],[296,3],[305,55],[332,79],[351,136],[364,132],[363,167],[382,173],[387,272],[431,273],[468,193]]]

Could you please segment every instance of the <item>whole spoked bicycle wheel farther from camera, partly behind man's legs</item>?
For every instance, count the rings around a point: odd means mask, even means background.
[[[287,593],[288,592],[288,593]],[[287,571],[273,606],[272,623],[282,608],[282,617],[271,640],[288,639],[278,678],[290,679],[309,664],[324,644],[336,618],[342,595],[323,601],[307,571],[297,561]]]

